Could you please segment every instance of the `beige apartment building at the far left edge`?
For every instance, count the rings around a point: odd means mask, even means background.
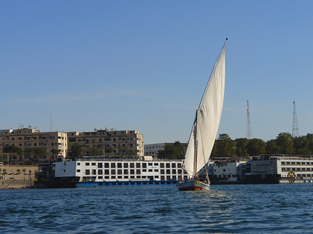
[[[3,153],[3,147],[15,145],[22,149],[22,156]],[[45,150],[44,156],[35,156],[25,153],[25,150],[33,148],[41,148]],[[58,151],[58,156],[52,153],[52,150]],[[65,158],[67,155],[67,133],[61,132],[43,132],[36,128],[18,128],[16,130],[6,129],[0,130],[0,159],[7,165],[35,165],[48,159]]]

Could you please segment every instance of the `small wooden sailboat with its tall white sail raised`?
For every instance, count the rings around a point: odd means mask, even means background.
[[[188,140],[188,146],[182,168],[188,180],[177,183],[179,190],[209,190],[210,181],[207,174],[207,162],[216,139],[216,133],[222,115],[225,90],[225,43],[218,55],[209,81],[202,94],[195,120]],[[200,181],[198,172],[204,167],[207,181]]]

